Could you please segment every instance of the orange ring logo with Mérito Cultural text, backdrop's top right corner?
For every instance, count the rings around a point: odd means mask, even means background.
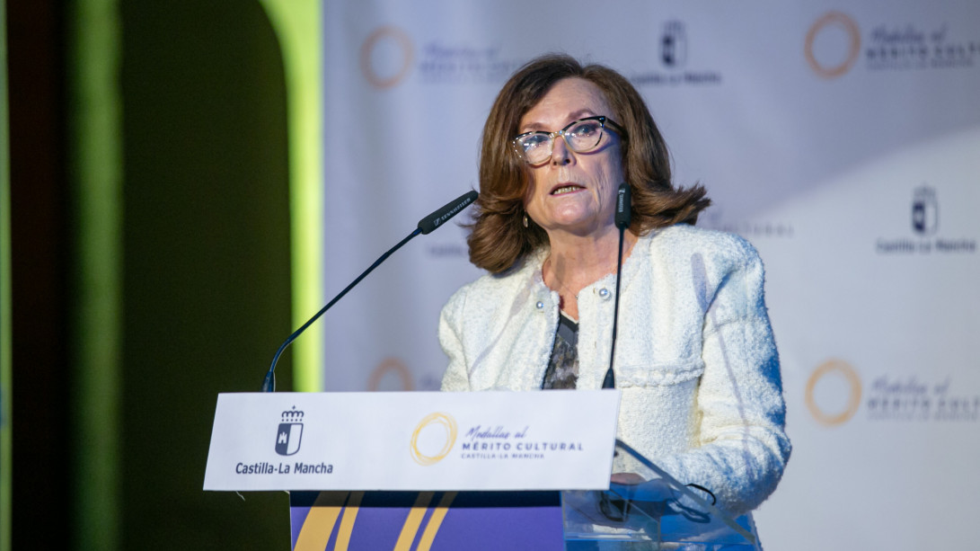
[[[856,66],[872,72],[977,67],[980,35],[957,34],[952,26],[908,21],[858,25],[847,14],[829,12],[809,26],[804,55],[813,73],[828,79]]]

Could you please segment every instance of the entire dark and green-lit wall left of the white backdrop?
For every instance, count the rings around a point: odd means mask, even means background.
[[[319,308],[319,2],[9,4],[0,550],[288,549],[284,493],[202,485],[217,395]]]

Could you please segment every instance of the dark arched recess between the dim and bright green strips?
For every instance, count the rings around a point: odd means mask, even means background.
[[[284,493],[201,489],[218,393],[293,325],[281,43],[258,2],[120,6],[121,548],[287,549]]]

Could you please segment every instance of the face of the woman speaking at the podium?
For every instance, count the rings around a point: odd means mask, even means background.
[[[582,78],[564,78],[521,117],[518,133],[556,131],[594,116],[613,118],[602,90]],[[556,232],[588,235],[613,226],[616,188],[623,180],[619,139],[607,125],[596,149],[575,153],[556,137],[551,157],[530,167],[524,210],[549,237]]]

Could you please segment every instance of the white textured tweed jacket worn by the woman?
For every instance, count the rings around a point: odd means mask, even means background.
[[[442,310],[442,389],[541,387],[559,320],[538,251],[484,275]],[[622,268],[613,362],[618,437],[731,513],[773,489],[790,455],[779,359],[756,250],[732,234],[673,225],[640,237]],[[578,388],[609,365],[615,275],[578,294]]]

